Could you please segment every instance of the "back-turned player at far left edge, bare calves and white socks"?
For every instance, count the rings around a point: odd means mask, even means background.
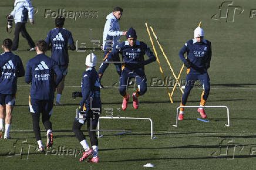
[[[24,67],[19,56],[11,52],[12,40],[5,39],[2,45],[4,53],[0,56],[0,137],[4,132],[5,139],[11,138],[9,130],[12,123],[12,110],[15,104],[17,79],[25,75]],[[6,113],[6,116],[5,116]]]

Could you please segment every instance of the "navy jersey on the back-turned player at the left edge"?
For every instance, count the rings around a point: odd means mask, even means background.
[[[16,94],[17,79],[25,75],[19,56],[12,52],[4,52],[0,56],[0,94]]]

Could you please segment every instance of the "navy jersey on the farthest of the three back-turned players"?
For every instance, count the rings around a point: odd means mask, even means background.
[[[67,65],[69,63],[69,45],[74,44],[72,34],[65,28],[54,28],[49,31],[45,40],[48,45],[52,44],[52,59],[58,65]]]

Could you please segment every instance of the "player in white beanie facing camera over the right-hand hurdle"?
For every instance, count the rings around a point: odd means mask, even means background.
[[[187,53],[187,59],[185,59],[184,53]],[[186,85],[180,106],[185,106],[190,90],[193,88],[194,83],[199,80],[203,84],[204,91],[200,102],[202,107],[198,108],[197,111],[202,118],[206,118],[207,115],[203,106],[206,104],[210,93],[210,78],[207,69],[210,67],[211,62],[211,42],[204,39],[204,30],[197,27],[194,30],[194,39],[188,40],[178,55],[187,67]],[[183,120],[183,111],[184,108],[180,108],[178,120]]]

